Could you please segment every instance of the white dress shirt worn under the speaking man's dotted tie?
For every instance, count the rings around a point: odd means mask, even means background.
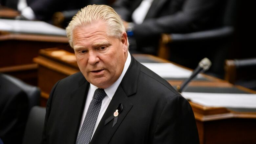
[[[96,121],[96,124],[95,124],[95,127],[94,127],[94,130],[93,130],[93,134],[92,134],[92,137],[94,135],[94,132],[103,116],[103,114],[105,113],[112,97],[114,96],[114,94],[116,93],[117,91],[117,87],[119,86],[119,84],[121,83],[122,79],[123,79],[123,76],[125,74],[125,72],[127,71],[129,65],[131,63],[131,55],[130,53],[128,52],[128,56],[127,56],[127,59],[126,59],[126,62],[124,64],[124,68],[123,68],[123,72],[121,73],[120,77],[117,79],[117,81],[111,85],[110,87],[104,89],[105,93],[107,94],[107,96],[105,96],[102,100],[102,103],[101,103],[101,107],[100,107],[100,111],[99,111],[99,114],[98,114],[98,118],[97,118],[97,121]],[[85,107],[84,107],[84,112],[83,112],[83,116],[82,116],[82,119],[81,119],[81,122],[80,122],[80,127],[79,127],[79,133],[80,133],[80,130],[82,128],[82,125],[83,125],[83,122],[84,122],[84,118],[85,118],[85,115],[87,113],[87,110],[89,108],[89,105],[93,99],[93,95],[94,95],[94,92],[95,90],[98,89],[98,87],[90,84],[90,88],[89,88],[89,91],[88,91],[88,94],[87,94],[87,98],[86,98],[86,102],[85,102]],[[114,112],[113,112],[114,113]],[[79,135],[78,133],[78,135]],[[77,137],[78,137],[77,135]],[[91,137],[91,139],[92,139]]]

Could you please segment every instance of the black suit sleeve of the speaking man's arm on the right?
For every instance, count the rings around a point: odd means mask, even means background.
[[[165,104],[158,121],[153,144],[199,144],[194,113],[190,104],[180,95]]]

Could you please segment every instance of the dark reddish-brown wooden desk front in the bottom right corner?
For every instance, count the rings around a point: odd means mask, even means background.
[[[230,118],[203,122],[204,139],[201,144],[256,143],[256,119]]]

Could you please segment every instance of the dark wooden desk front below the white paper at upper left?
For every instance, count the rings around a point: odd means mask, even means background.
[[[66,41],[64,41],[66,39]],[[54,41],[55,40],[55,41]],[[0,35],[0,67],[31,64],[40,49],[58,47],[73,51],[66,37],[26,34]]]

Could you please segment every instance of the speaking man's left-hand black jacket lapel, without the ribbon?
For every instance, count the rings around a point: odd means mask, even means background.
[[[79,81],[79,87],[73,91],[70,95],[69,104],[70,106],[67,109],[67,114],[69,117],[67,118],[68,124],[65,125],[68,130],[66,136],[68,136],[71,141],[67,143],[75,143],[76,137],[78,134],[81,117],[84,110],[85,100],[87,97],[87,93],[89,90],[89,82],[85,80],[85,78],[81,78]],[[66,139],[66,138],[65,138]]]

